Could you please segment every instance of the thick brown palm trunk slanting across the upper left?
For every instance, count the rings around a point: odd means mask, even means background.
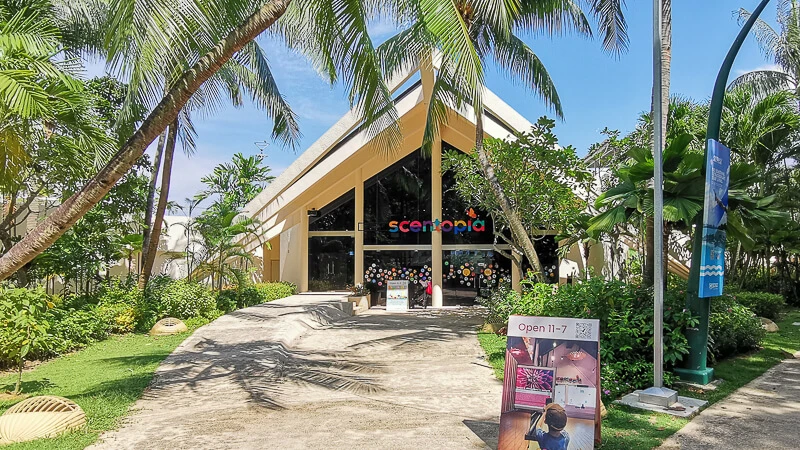
[[[0,258],[0,280],[8,278],[33,260],[99,203],[133,167],[147,147],[175,120],[192,94],[236,52],[272,26],[286,12],[290,2],[272,0],[264,4],[185,71],[108,164]]]

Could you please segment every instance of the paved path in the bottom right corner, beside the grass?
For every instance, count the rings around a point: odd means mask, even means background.
[[[800,360],[778,364],[715,403],[660,448],[800,448]]]

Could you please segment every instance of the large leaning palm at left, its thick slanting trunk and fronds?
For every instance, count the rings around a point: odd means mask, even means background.
[[[112,2],[112,11],[130,6],[121,3]],[[171,1],[148,2],[151,13],[146,16],[158,20],[141,21],[142,15],[134,15],[132,11],[112,15],[136,20],[136,26],[147,27],[154,36],[162,35],[159,48],[168,51],[141,55],[140,58],[147,62],[140,66],[147,69],[144,72],[157,72],[159,67],[175,67],[169,63],[176,55],[186,63],[168,85],[165,94],[149,96],[150,100],[143,103],[150,113],[106,166],[0,258],[0,280],[31,261],[97,204],[147,147],[176,120],[193,94],[228,61],[240,57],[249,42],[284,16],[281,25],[275,27],[276,33],[282,35],[288,45],[309,55],[331,81],[341,77],[348,84],[351,103],[362,113],[367,124],[373,124],[371,129],[388,129],[389,132],[381,134],[387,140],[399,136],[397,114],[367,32],[367,16],[379,5],[359,0],[273,0],[267,3],[225,0],[192,3],[198,5],[197,8],[190,8],[187,3],[181,5],[182,8],[176,9]],[[126,26],[124,23],[118,25]],[[213,32],[200,32],[205,30]],[[199,42],[195,36],[209,39]],[[117,36],[120,41],[128,37]],[[122,45],[120,42],[117,44]],[[142,74],[134,73],[131,79],[136,76]],[[146,77],[142,79],[144,84],[149,83]],[[139,92],[136,82],[133,85],[132,89]],[[158,84],[153,88],[163,89],[162,86]]]

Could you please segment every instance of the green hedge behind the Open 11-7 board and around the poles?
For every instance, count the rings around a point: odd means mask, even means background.
[[[685,282],[684,282],[685,283]],[[512,314],[592,318],[600,321],[603,396],[607,400],[649,386],[653,373],[653,292],[640,285],[593,278],[556,288],[526,283],[522,294],[500,289],[484,301],[489,322]],[[739,295],[737,294],[737,299]],[[697,324],[685,307],[685,292],[675,286],[664,294],[664,361],[669,370],[689,351],[687,327]],[[712,300],[709,360],[756,348],[764,336],[761,322],[732,297]],[[670,381],[666,374],[665,382]]]

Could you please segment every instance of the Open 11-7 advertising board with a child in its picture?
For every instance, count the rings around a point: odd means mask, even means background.
[[[596,319],[509,318],[498,449],[594,448],[599,327]]]

